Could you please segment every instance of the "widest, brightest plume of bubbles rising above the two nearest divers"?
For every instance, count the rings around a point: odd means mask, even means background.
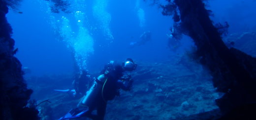
[[[40,0],[39,3],[43,5]],[[59,17],[57,14],[54,15],[54,13],[51,12],[49,1],[45,3],[48,6],[46,10],[46,13],[49,14],[48,23],[51,24],[55,33],[60,35],[60,40],[66,43],[67,48],[73,51],[76,64],[80,73],[82,73],[83,70],[87,70],[88,56],[94,53],[94,40],[86,27],[89,26],[89,24],[85,12],[83,12],[86,8],[85,0],[73,0],[70,2],[71,11],[68,14],[73,15],[76,24],[71,24],[74,23],[70,21],[72,20],[71,18],[69,19],[64,16]],[[74,28],[77,28],[76,32]]]

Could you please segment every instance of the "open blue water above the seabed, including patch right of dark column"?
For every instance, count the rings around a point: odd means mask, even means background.
[[[214,13],[214,22],[229,23],[230,34],[256,29],[255,0],[208,0],[206,4]],[[75,16],[77,11],[83,14]],[[62,23],[62,17],[68,23]],[[82,59],[80,69],[92,71],[109,60],[131,57],[137,61],[160,62],[176,54],[167,48],[166,34],[173,23],[171,17],[162,16],[157,5],[143,0],[74,0],[70,13],[59,14],[50,12],[47,1],[24,0],[18,10],[9,11],[7,19],[13,28],[15,47],[19,48],[16,56],[23,67],[32,70],[32,75],[72,73],[77,64],[75,54],[80,54],[81,58],[77,59]],[[81,24],[78,19],[83,19]],[[69,25],[70,31],[60,30],[64,25]],[[79,33],[79,27],[87,33],[81,29]],[[130,48],[129,43],[139,40],[145,31],[151,31],[152,40]],[[78,44],[83,44],[83,48],[72,47],[74,42],[68,43],[70,39],[80,41]],[[189,38],[185,39],[182,46],[187,48],[192,44]],[[76,48],[78,51],[74,50]],[[80,53],[82,50],[84,53]]]

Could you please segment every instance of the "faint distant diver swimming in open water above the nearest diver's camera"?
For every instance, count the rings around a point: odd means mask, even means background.
[[[134,47],[134,46],[141,46],[144,45],[146,42],[151,40],[151,32],[150,31],[146,31],[144,32],[142,35],[140,35],[140,40],[138,42],[131,42],[130,46]]]

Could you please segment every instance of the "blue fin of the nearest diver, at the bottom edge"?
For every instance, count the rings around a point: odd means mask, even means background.
[[[60,118],[59,120],[69,120],[69,119],[74,119],[74,118],[79,118],[83,116],[87,110],[83,110],[81,112],[77,112],[78,110],[76,109],[71,109],[64,117]]]

